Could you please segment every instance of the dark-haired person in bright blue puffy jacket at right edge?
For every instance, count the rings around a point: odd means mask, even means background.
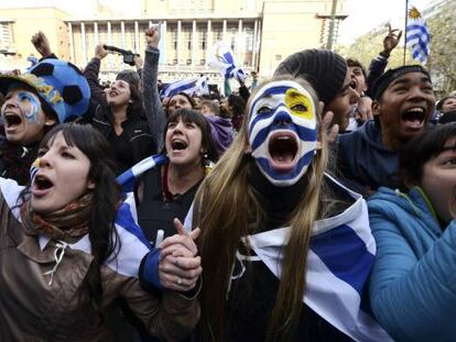
[[[372,311],[394,341],[455,341],[456,124],[409,142],[400,175],[369,199]]]

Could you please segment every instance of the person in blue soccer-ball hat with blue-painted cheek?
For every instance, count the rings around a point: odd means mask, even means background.
[[[0,75],[0,92],[6,137],[0,142],[0,176],[25,185],[40,141],[55,124],[86,112],[90,89],[74,65],[44,59],[26,74]]]

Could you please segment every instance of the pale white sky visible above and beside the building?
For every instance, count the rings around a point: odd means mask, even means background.
[[[423,10],[435,0],[409,0],[409,7],[415,5]],[[56,5],[75,15],[86,15],[90,8],[90,0],[0,0],[0,10],[8,7],[39,7]],[[140,0],[100,0],[109,4],[113,10],[134,15],[140,12]],[[339,43],[350,44],[357,36],[391,21],[392,26],[403,30],[403,18],[405,13],[405,0],[346,0],[345,12],[348,18],[339,27]]]

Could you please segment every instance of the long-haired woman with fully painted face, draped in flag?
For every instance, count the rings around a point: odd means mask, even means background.
[[[388,340],[360,309],[366,203],[325,176],[317,103],[303,79],[257,87],[198,189],[186,224],[202,229],[202,341]]]

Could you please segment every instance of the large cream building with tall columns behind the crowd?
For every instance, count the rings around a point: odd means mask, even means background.
[[[142,54],[144,30],[161,21],[163,81],[204,74],[220,84],[219,75],[206,66],[219,40],[232,47],[245,70],[267,77],[287,55],[326,45],[332,5],[333,0],[141,0],[134,18],[116,15],[97,1],[84,18],[54,8],[0,10],[0,52],[7,51],[0,69],[26,65],[26,57],[36,54],[30,37],[37,30],[50,37],[53,48],[57,46],[59,57],[84,67],[99,43]],[[345,0],[337,1],[334,40],[338,22],[347,16],[344,8]],[[126,67],[120,56],[110,55],[102,62],[102,77],[112,78]]]

